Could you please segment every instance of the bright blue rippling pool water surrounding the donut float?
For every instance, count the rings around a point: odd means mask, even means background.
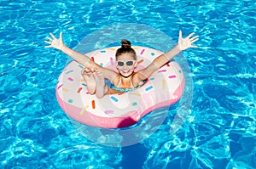
[[[0,1],[1,168],[255,168],[255,8],[252,0]],[[193,99],[181,128],[170,133],[177,103],[148,138],[113,147],[85,137],[61,110],[55,84],[70,59],[45,49],[44,40],[63,31],[76,48],[95,31],[127,23],[147,25],[173,42],[178,30],[195,31],[201,40],[200,48],[183,52]],[[106,47],[101,38],[88,44]],[[153,113],[157,120],[164,111]],[[137,126],[150,127],[147,119]],[[90,137],[102,133],[91,131]]]

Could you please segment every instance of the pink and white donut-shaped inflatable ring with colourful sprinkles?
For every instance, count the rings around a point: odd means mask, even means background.
[[[89,54],[101,66],[116,70],[115,51],[119,47],[99,49]],[[137,70],[149,65],[162,52],[133,46],[137,53]],[[59,76],[56,84],[56,98],[67,115],[76,121],[92,127],[129,127],[150,111],[177,102],[183,94],[183,70],[177,62],[169,63],[154,72],[143,87],[127,93],[106,95],[97,99],[87,92],[81,76],[84,67],[72,61]]]

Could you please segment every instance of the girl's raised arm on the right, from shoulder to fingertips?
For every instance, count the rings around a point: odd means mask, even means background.
[[[197,48],[197,46],[192,45],[193,42],[196,42],[199,40],[198,36],[192,37],[194,34],[195,34],[194,32],[190,33],[188,37],[183,38],[182,31],[179,31],[177,45],[174,48],[172,48],[170,51],[168,51],[166,54],[161,54],[160,56],[155,58],[153,62],[143,70],[139,70],[137,72],[138,78],[142,81],[147,79],[148,76],[154,73],[154,71],[159,70],[163,65],[166,65],[166,63],[169,60],[174,58],[181,51],[187,48]]]

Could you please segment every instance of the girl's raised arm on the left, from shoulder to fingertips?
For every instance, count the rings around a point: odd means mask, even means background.
[[[117,73],[113,70],[109,70],[108,68],[103,68],[100,65],[97,65],[94,61],[90,59],[90,57],[86,56],[85,54],[81,54],[77,51],[74,51],[71,48],[68,48],[62,40],[62,32],[60,33],[60,38],[57,39],[52,33],[49,33],[50,37],[47,37],[49,41],[44,41],[49,44],[49,46],[45,46],[45,48],[56,48],[61,50],[63,53],[67,54],[79,64],[84,65],[84,67],[87,67],[89,69],[94,68],[96,70],[102,70],[103,75],[105,78],[108,78],[109,80],[113,80],[117,76]]]

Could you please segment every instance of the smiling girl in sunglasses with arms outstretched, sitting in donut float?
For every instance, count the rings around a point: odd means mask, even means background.
[[[165,65],[181,51],[187,48],[197,48],[192,43],[199,40],[198,36],[192,37],[194,32],[190,33],[188,37],[183,38],[182,31],[179,31],[178,42],[174,48],[166,54],[156,57],[151,64],[137,72],[134,71],[137,67],[137,54],[131,48],[131,42],[122,40],[121,48],[116,51],[115,65],[119,72],[115,72],[114,70],[97,65],[88,56],[68,48],[63,43],[62,32],[60,33],[59,39],[52,33],[49,33],[49,35],[51,36],[47,37],[49,41],[44,41],[49,46],[45,46],[45,48],[59,49],[79,62],[79,64],[84,65],[84,70],[82,70],[81,74],[87,84],[89,93],[96,94],[97,98],[102,98],[106,94],[129,92],[137,87],[141,87],[154,71],[159,70],[160,67]],[[112,83],[110,87],[105,84],[105,78]]]

